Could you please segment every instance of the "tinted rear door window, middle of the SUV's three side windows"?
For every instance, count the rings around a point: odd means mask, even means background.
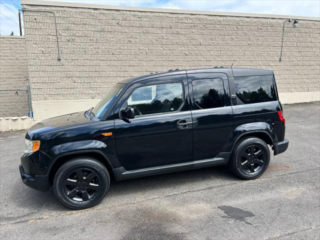
[[[201,109],[225,106],[222,78],[192,81],[193,102]]]

